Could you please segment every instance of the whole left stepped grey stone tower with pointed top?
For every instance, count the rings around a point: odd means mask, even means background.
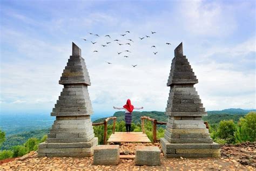
[[[64,88],[51,113],[56,120],[46,141],[39,144],[38,156],[92,156],[98,138],[90,118],[93,112],[87,86],[91,83],[81,50],[75,43],[59,84]]]

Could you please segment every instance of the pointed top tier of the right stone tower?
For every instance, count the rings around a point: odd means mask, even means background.
[[[197,84],[197,76],[194,75],[186,56],[183,56],[182,42],[174,50],[174,58],[167,86],[173,84]]]

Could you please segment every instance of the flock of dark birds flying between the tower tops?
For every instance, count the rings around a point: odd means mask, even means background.
[[[94,36],[99,37],[99,35],[97,35],[97,34],[94,34],[94,33],[91,33],[91,32],[88,32],[88,33],[89,33],[90,35],[94,35]],[[124,36],[126,36],[126,35],[129,35],[129,33],[130,33],[130,31],[125,31],[125,33],[124,33],[124,34],[120,34],[120,36],[124,37]],[[155,34],[155,33],[157,33],[157,32],[151,31],[151,34]],[[109,38],[111,38],[110,35],[105,35],[104,37],[109,37]],[[150,36],[145,35],[145,37],[139,37],[140,40],[143,40],[144,38],[150,38]],[[85,38],[83,38],[83,40],[88,41],[88,40],[85,39]],[[128,42],[128,43],[125,43],[125,45],[131,46],[131,43],[134,43],[132,39],[126,39],[126,40],[129,40],[129,42]],[[119,39],[114,39],[113,42],[116,42],[119,46],[124,45],[124,44],[120,43],[120,40],[119,40]],[[97,42],[92,42],[92,41],[91,41],[91,43],[94,45],[94,44],[96,44]],[[112,42],[106,42],[106,44],[105,44],[105,45],[102,44],[102,46],[103,46],[103,47],[106,47],[106,46],[107,46],[108,44],[110,44],[110,43],[112,43]],[[171,43],[165,43],[165,44],[166,44],[166,45],[171,45]],[[153,47],[153,48],[156,48],[156,46],[154,46],[154,45],[152,45],[151,48],[152,48],[152,47]],[[98,50],[94,50],[93,52],[98,52]],[[123,52],[132,53],[132,52],[129,51],[129,50],[125,50],[125,51],[123,51]],[[119,55],[119,54],[121,54],[121,53],[123,53],[123,52],[117,52],[117,54]],[[157,54],[157,53],[158,53],[158,52],[153,52],[153,54]],[[124,58],[129,58],[129,56],[124,55]],[[105,61],[105,62],[106,62],[107,64],[112,64],[112,63],[110,63],[109,61]],[[137,65],[132,65],[132,66],[133,66],[133,67],[136,67]]]

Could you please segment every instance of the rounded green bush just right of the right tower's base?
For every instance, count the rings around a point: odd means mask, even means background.
[[[237,127],[235,126],[233,120],[220,121],[219,127],[217,129],[217,137],[226,140],[227,143],[234,143],[234,133],[236,130]]]

